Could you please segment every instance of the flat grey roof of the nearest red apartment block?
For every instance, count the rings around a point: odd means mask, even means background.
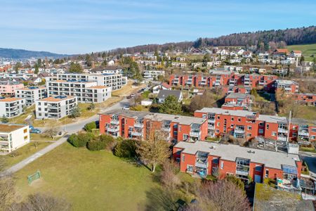
[[[174,147],[183,148],[183,153],[195,155],[198,151],[202,151],[233,162],[236,161],[236,158],[246,158],[251,162],[261,163],[265,167],[272,167],[278,170],[282,170],[282,166],[284,165],[296,167],[295,161],[300,160],[299,156],[294,154],[264,151],[233,144],[210,143],[207,141],[196,141],[195,143],[180,141]]]

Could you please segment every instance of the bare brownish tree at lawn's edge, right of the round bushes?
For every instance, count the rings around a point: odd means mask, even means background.
[[[169,143],[155,136],[147,141],[140,141],[137,145],[136,152],[145,164],[151,165],[152,172],[156,170],[157,165],[162,164],[169,158]]]

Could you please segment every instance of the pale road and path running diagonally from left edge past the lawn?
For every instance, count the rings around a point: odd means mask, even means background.
[[[114,104],[113,106],[110,106],[108,108],[103,108],[100,110],[100,113],[103,113],[107,110],[114,110],[114,109],[121,109],[124,106],[129,106],[129,100],[124,98],[122,101],[119,101],[119,103]],[[86,123],[88,122],[93,122],[99,120],[98,115],[93,115],[92,117],[87,118],[86,120],[82,120],[80,122],[72,123],[72,124],[65,124],[63,125],[63,128],[67,134],[73,134],[76,132],[79,132]],[[44,128],[41,128],[44,129]],[[25,160],[22,160],[21,162],[18,162],[17,164],[13,165],[10,167],[8,170],[2,172],[0,174],[1,176],[8,175],[8,174],[13,174],[15,172],[18,172],[18,170],[21,170],[23,167],[28,165],[30,162],[33,162],[34,160],[37,160],[37,158],[40,158],[41,156],[45,155],[49,151],[52,151],[54,148],[60,146],[62,143],[65,143],[67,141],[69,135],[63,136],[61,139],[58,141],[55,141],[54,143],[46,146],[46,148],[41,149],[37,153],[29,156],[28,158],[25,158]]]

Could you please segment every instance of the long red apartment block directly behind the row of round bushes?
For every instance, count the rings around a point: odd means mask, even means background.
[[[149,139],[163,132],[168,141],[205,140],[207,121],[203,118],[131,110],[110,110],[100,114],[100,133],[125,139]]]

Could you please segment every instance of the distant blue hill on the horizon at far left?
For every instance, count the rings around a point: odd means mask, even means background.
[[[51,53],[47,51],[27,51],[22,49],[1,49],[0,58],[14,58],[14,59],[27,59],[27,58],[61,58],[69,56],[67,54]]]

